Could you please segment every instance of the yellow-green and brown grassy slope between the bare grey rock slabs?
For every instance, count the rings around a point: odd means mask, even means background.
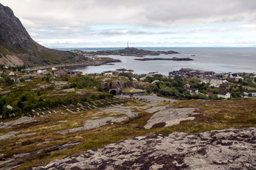
[[[127,103],[125,105],[138,106],[143,103]],[[33,157],[26,159],[18,169],[26,169],[31,166],[40,166],[52,161],[53,159],[63,158],[68,154],[73,154],[86,149],[102,147],[111,142],[117,142],[129,137],[146,135],[151,132],[169,133],[179,132],[202,132],[206,130],[218,130],[223,128],[243,128],[256,126],[256,100],[239,101],[178,101],[172,106],[174,108],[197,108],[195,120],[184,121],[178,125],[172,125],[167,128],[154,128],[144,130],[142,127],[151,114],[143,110],[137,110],[139,115],[127,122],[115,123],[114,125],[105,125],[94,130],[73,132],[67,135],[55,134],[58,130],[66,128],[75,128],[90,119],[91,116],[105,117],[105,113],[95,111],[83,111],[81,113],[61,115],[55,114],[45,118],[37,118],[37,123],[29,123],[13,128],[2,130],[1,134],[7,132],[23,130],[23,132],[37,132],[36,135],[28,137],[16,137],[10,140],[0,141],[0,154],[6,154],[11,157],[13,154],[21,154],[49,146],[61,145],[70,141],[80,141],[79,145],[71,149],[64,149],[55,152],[41,152]],[[69,120],[66,123],[58,123],[59,120]]]

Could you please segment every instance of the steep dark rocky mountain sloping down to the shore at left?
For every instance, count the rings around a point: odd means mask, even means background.
[[[15,67],[77,62],[72,52],[51,50],[35,42],[8,6],[0,4],[0,64]]]

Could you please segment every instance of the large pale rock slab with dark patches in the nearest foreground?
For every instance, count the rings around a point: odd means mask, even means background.
[[[255,169],[256,128],[122,140],[33,169]]]

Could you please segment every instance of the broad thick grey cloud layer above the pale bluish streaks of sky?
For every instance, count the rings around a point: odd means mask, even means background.
[[[256,20],[255,0],[3,0],[38,27],[131,23],[174,27]]]

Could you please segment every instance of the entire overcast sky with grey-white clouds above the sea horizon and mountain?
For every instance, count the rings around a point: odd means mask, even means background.
[[[0,0],[46,47],[256,47],[255,0]]]

